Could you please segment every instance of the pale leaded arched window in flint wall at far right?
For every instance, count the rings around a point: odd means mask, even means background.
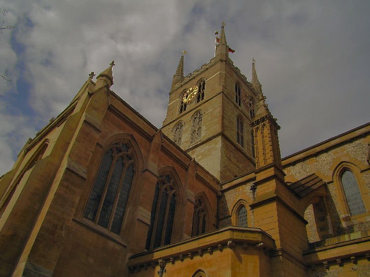
[[[351,216],[365,213],[366,209],[355,175],[351,171],[345,170],[340,177],[340,181]]]

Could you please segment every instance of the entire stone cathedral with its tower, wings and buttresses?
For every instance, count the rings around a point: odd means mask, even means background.
[[[208,64],[181,57],[160,129],[113,62],[90,74],[0,177],[0,276],[370,276],[370,123],[282,159],[230,50],[222,26]]]

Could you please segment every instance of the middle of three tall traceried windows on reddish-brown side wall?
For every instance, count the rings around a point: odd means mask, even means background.
[[[146,249],[153,249],[171,243],[177,203],[173,181],[168,174],[160,175],[157,180],[151,206]]]

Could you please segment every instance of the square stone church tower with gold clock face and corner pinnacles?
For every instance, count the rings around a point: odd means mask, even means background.
[[[228,53],[222,25],[215,57],[184,77],[184,55],[173,76],[162,132],[221,181],[255,169],[252,123],[261,85],[253,63],[252,80]]]

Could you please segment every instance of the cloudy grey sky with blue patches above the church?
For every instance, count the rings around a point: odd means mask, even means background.
[[[112,90],[158,128],[182,50],[209,63],[226,23],[248,80],[252,56],[282,156],[370,121],[370,1],[0,0],[0,174],[27,139],[112,60]],[[95,80],[95,79],[94,79]]]

